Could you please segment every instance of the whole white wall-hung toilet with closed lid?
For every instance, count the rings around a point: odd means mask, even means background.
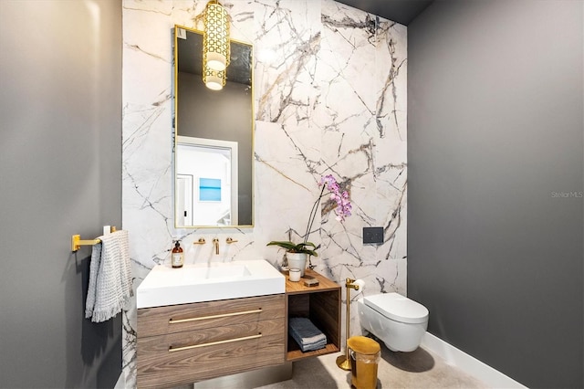
[[[428,328],[428,309],[398,293],[381,293],[357,301],[361,327],[393,352],[412,352]]]

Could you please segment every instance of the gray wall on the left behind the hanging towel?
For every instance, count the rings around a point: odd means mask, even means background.
[[[121,2],[4,0],[0,53],[0,386],[111,387],[70,239],[121,227]]]

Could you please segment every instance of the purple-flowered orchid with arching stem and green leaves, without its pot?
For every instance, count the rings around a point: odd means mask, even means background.
[[[339,183],[332,174],[327,174],[321,177],[318,186],[321,188],[320,195],[318,195],[317,201],[315,201],[314,205],[312,205],[312,209],[310,209],[307,230],[304,234],[303,241],[295,244],[287,240],[273,240],[268,243],[267,246],[278,246],[285,248],[290,253],[306,253],[309,256],[318,257],[317,249],[320,245],[317,247],[314,243],[308,242],[308,235],[310,234],[310,230],[312,229],[314,220],[317,216],[320,199],[327,195],[330,196],[329,200],[336,203],[335,214],[337,215],[337,220],[341,223],[345,221],[345,218],[350,216],[350,211],[352,209],[349,200],[349,193],[347,191],[340,191]]]

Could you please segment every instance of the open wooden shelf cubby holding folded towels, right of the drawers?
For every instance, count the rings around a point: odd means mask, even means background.
[[[303,279],[291,282],[286,278],[287,318],[310,319],[327,336],[327,346],[312,352],[302,352],[297,342],[286,333],[288,362],[340,352],[340,286],[316,271],[307,269],[305,278],[309,277],[318,279],[318,286],[307,287]]]

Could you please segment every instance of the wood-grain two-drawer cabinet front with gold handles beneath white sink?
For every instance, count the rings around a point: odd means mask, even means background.
[[[138,387],[285,363],[285,300],[279,294],[138,310]]]

